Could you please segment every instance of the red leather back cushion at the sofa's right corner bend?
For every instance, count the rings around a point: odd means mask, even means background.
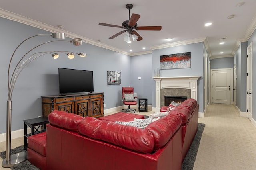
[[[175,114],[169,114],[165,117],[150,123],[145,130],[154,135],[154,150],[163,147],[180,128],[181,118]]]

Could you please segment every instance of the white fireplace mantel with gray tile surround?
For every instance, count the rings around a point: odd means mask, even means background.
[[[165,106],[164,96],[186,96],[197,100],[199,78],[200,76],[153,77],[156,81],[156,107],[152,107],[152,111],[160,112],[160,108]]]

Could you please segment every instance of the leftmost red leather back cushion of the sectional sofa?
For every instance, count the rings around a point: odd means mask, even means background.
[[[54,110],[48,115],[48,120],[52,125],[78,132],[78,124],[84,117],[73,113]]]

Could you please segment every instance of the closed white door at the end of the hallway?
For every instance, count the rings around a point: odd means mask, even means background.
[[[232,68],[212,69],[212,103],[231,104],[233,96]]]

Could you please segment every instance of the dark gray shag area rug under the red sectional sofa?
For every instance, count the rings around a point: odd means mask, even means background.
[[[184,161],[182,162],[182,170],[193,170],[194,163],[196,160],[196,154],[198,151],[202,133],[204,131],[204,127],[205,127],[205,124],[198,123],[198,130],[196,132],[194,141],[192,142],[190,149],[188,150],[188,153]],[[19,152],[23,152],[23,151],[24,151],[24,145],[11,149],[11,155]],[[4,159],[5,151],[0,152],[0,156],[2,159]],[[36,166],[32,165],[28,160],[12,166],[11,169],[12,170],[39,170],[38,168],[36,168]]]

